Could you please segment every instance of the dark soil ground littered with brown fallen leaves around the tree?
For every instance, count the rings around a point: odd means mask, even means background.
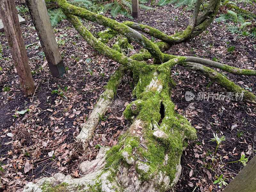
[[[19,2],[16,5],[20,6]],[[133,21],[170,35],[186,28],[190,11],[174,9],[172,5],[155,8],[153,11],[141,10],[140,18]],[[0,191],[4,192],[20,192],[27,182],[36,182],[57,172],[79,177],[78,165],[82,161],[93,160],[101,147],[117,143],[127,124],[123,110],[132,98],[129,84],[132,78],[125,76],[105,115],[106,120],[100,122],[88,150],[83,151],[75,140],[80,124],[86,122],[118,63],[95,52],[70,23],[63,20],[54,31],[67,73],[62,78],[52,77],[28,12],[22,16],[27,21],[21,25],[21,30],[36,93],[25,97],[21,92],[6,36],[1,33],[0,48],[4,59],[0,60]],[[127,19],[118,16],[116,20]],[[90,22],[84,21],[84,24],[93,34],[103,29]],[[227,42],[228,46],[235,46],[234,52],[227,52]],[[225,23],[213,22],[202,35],[173,45],[167,53],[215,58],[234,67],[255,69],[253,44],[253,39],[247,36],[238,37],[227,32]],[[138,45],[134,47],[140,49]],[[228,93],[196,72],[178,66],[172,72],[177,83],[172,90],[176,111],[188,118],[198,136],[195,141],[189,141],[183,152],[182,173],[174,191],[220,191],[220,186],[213,184],[214,180],[223,174],[229,183],[244,167],[240,162],[222,164],[237,161],[243,154],[250,160],[255,154],[256,107],[240,100],[207,100],[208,92]],[[222,74],[256,94],[256,77]],[[57,93],[52,93],[54,90]],[[186,101],[187,91],[194,93],[196,98]],[[199,97],[203,92],[206,99]],[[210,141],[213,133],[226,138],[218,147],[216,156],[213,155],[216,143]]]

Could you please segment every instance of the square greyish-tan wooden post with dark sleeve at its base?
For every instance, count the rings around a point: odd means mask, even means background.
[[[65,74],[65,67],[60,56],[45,2],[44,0],[26,0],[26,4],[52,76],[61,77]]]

